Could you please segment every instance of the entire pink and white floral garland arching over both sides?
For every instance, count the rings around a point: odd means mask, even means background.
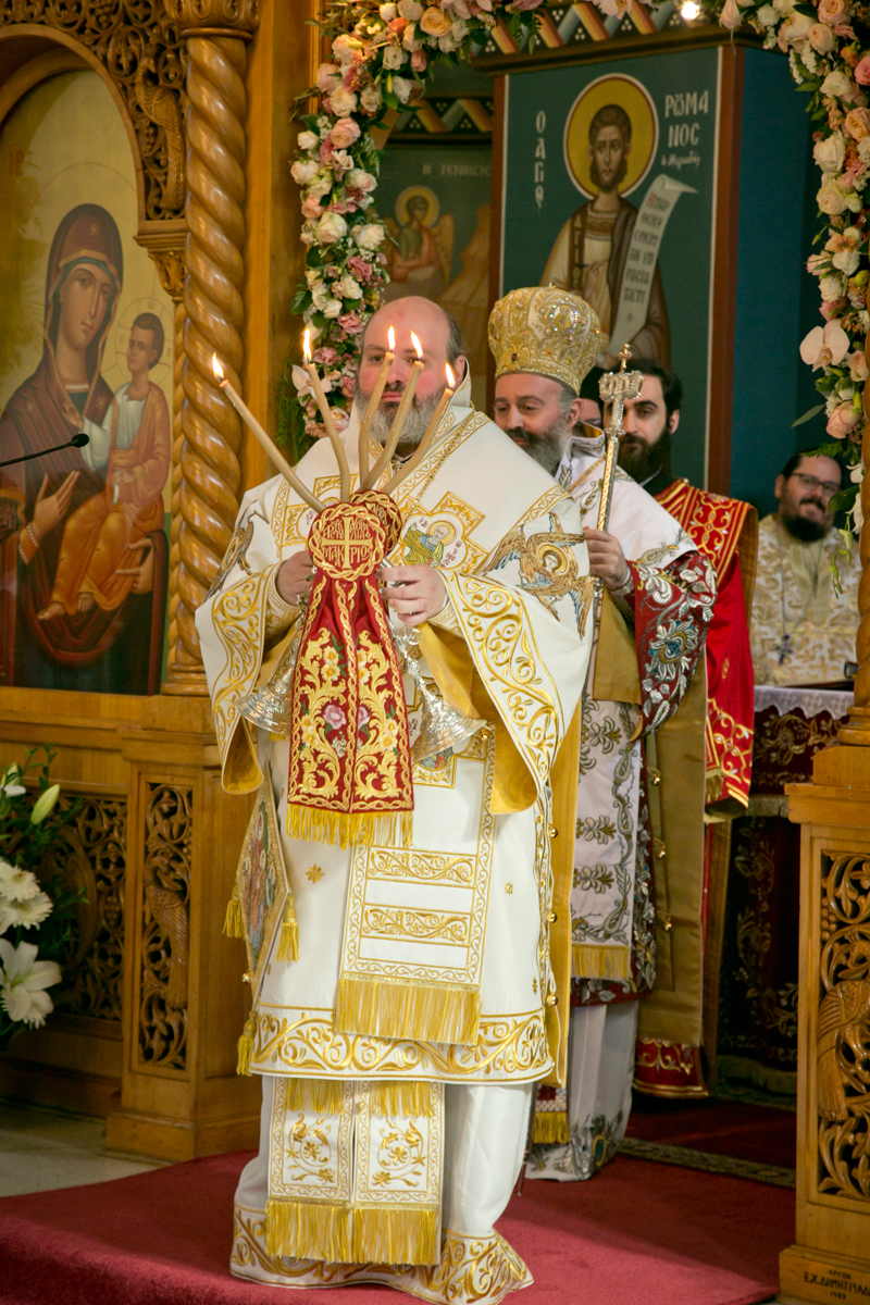
[[[317,341],[314,360],[331,394],[337,424],[350,418],[356,337],[378,305],[387,281],[385,227],[373,209],[380,155],[372,130],[386,111],[410,106],[423,90],[434,60],[458,61],[506,22],[518,46],[531,48],[543,0],[331,0],[321,26],[331,37],[331,63],[317,70],[320,112],[303,119],[293,179],[303,188],[303,243],[308,245],[305,284],[293,300]],[[640,0],[634,0],[640,4]],[[655,8],[661,0],[652,0]],[[622,14],[633,0],[596,0],[605,14]],[[764,47],[788,54],[798,89],[809,95],[818,127],[814,158],[822,170],[819,213],[826,228],[809,270],[819,278],[824,326],[801,343],[801,358],[814,371],[824,402],[831,442],[860,482],[858,444],[867,378],[865,341],[870,331],[867,283],[870,248],[863,191],[870,180],[870,4],[860,0],[703,0],[710,20],[729,31],[746,23],[764,37]],[[304,97],[307,98],[307,97]],[[303,368],[293,368],[300,420],[293,453],[322,433]],[[292,406],[292,405],[291,405]],[[286,424],[286,423],[284,423]],[[837,496],[836,506],[858,512],[858,484]],[[860,525],[860,519],[856,525]]]

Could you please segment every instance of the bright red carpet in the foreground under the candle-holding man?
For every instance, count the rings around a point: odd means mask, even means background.
[[[247,1156],[210,1156],[0,1201],[3,1305],[397,1305],[380,1287],[297,1291],[230,1278]],[[750,1305],[776,1291],[794,1195],[617,1156],[592,1182],[527,1181],[500,1231],[535,1285],[518,1305]],[[406,1297],[410,1300],[410,1297]]]

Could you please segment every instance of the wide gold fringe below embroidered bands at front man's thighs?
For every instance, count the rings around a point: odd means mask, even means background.
[[[473,1047],[480,1026],[480,992],[455,983],[343,974],[334,1024],[342,1034]]]

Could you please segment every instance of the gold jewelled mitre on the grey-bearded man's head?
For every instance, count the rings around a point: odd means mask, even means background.
[[[489,347],[496,380],[509,372],[549,376],[580,393],[600,348],[595,309],[556,286],[511,290],[489,315]]]

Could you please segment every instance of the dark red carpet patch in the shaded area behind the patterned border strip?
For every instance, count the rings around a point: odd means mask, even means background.
[[[635,1094],[627,1137],[794,1168],[794,1111],[749,1101],[668,1101]]]

